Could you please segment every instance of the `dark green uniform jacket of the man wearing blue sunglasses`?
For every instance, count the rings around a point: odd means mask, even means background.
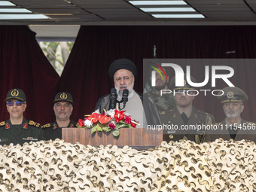
[[[39,123],[23,118],[20,125],[12,125],[11,120],[0,123],[0,145],[23,145],[25,142],[44,140],[44,133]]]

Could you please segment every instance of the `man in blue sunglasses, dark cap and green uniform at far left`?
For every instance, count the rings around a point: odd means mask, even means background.
[[[25,142],[44,139],[40,124],[23,117],[26,110],[26,96],[23,90],[9,90],[4,102],[10,119],[0,123],[0,145],[23,145]]]

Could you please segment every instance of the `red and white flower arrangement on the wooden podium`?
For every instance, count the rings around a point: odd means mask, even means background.
[[[130,114],[125,113],[125,111],[118,111],[117,109],[111,109],[102,114],[97,110],[88,117],[85,117],[84,120],[79,119],[78,123],[79,127],[91,128],[91,134],[96,131],[110,132],[113,130],[112,133],[115,137],[119,136],[119,128],[136,128],[136,125],[139,124],[136,120],[132,120]]]

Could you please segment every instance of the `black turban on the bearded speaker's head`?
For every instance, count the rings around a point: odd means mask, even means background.
[[[108,75],[111,79],[114,79],[114,74],[120,69],[126,69],[133,73],[133,76],[136,78],[137,69],[134,63],[130,59],[117,59],[112,62],[111,66],[108,69]]]

